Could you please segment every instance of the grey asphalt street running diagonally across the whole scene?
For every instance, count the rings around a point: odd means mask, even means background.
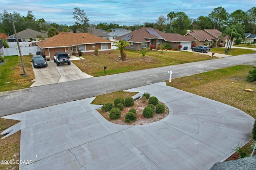
[[[256,61],[256,53],[0,92],[0,116]]]

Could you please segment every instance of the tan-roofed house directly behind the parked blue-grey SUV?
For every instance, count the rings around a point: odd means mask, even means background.
[[[228,36],[219,39],[222,34],[218,29],[204,29],[204,30],[188,30],[185,37],[196,40],[196,45],[209,45],[210,47],[215,43],[216,46],[225,47],[228,41]]]

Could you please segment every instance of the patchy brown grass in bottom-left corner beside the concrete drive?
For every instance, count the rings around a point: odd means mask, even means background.
[[[0,118],[0,133],[2,133],[8,127],[15,125],[19,121],[2,119]],[[1,136],[2,138],[3,136]],[[0,158],[1,160],[13,161],[15,164],[0,164],[1,170],[18,170],[19,164],[16,164],[16,160],[20,160],[20,131],[6,137],[5,139],[0,139]]]

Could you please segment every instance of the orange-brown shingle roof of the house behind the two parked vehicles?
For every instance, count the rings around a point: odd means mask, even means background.
[[[89,33],[59,33],[53,37],[47,38],[45,40],[39,41],[36,44],[40,48],[49,48],[49,47],[71,47],[72,45],[79,44],[93,44],[93,43],[111,43],[107,39],[97,37]]]

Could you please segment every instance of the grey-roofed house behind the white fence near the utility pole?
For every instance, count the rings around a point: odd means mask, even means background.
[[[19,42],[38,41],[38,37],[37,37],[38,35],[42,35],[42,37],[47,38],[46,33],[41,33],[29,28],[17,33]],[[16,42],[16,38],[14,34],[8,36],[7,38],[8,38],[7,42]]]

